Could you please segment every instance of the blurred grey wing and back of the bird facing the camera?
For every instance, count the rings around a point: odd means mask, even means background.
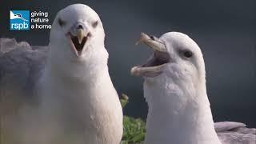
[[[34,102],[36,98],[31,97],[46,62],[47,50],[47,46],[0,38],[0,114],[16,111],[17,103]]]

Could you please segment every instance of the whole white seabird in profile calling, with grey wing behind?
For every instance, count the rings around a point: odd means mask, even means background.
[[[161,38],[142,33],[139,42],[154,50],[131,74],[144,77],[149,106],[146,144],[253,144],[256,130],[238,122],[214,124],[206,94],[206,71],[199,46],[186,34]]]

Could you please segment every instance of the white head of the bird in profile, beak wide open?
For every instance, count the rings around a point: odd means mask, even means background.
[[[154,50],[146,64],[131,74],[153,82],[205,82],[205,64],[199,46],[186,34],[169,32],[160,38],[142,33],[142,42]]]

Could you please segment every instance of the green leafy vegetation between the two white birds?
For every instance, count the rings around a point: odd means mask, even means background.
[[[128,103],[128,96],[122,94],[122,107]],[[146,123],[141,118],[123,117],[123,135],[121,144],[142,144],[146,134]]]

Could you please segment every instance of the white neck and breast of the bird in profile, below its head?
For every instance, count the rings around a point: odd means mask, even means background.
[[[144,83],[149,106],[146,144],[220,144],[206,86],[201,86],[200,93],[192,87],[194,90],[190,92],[180,87],[174,83],[170,86]]]

